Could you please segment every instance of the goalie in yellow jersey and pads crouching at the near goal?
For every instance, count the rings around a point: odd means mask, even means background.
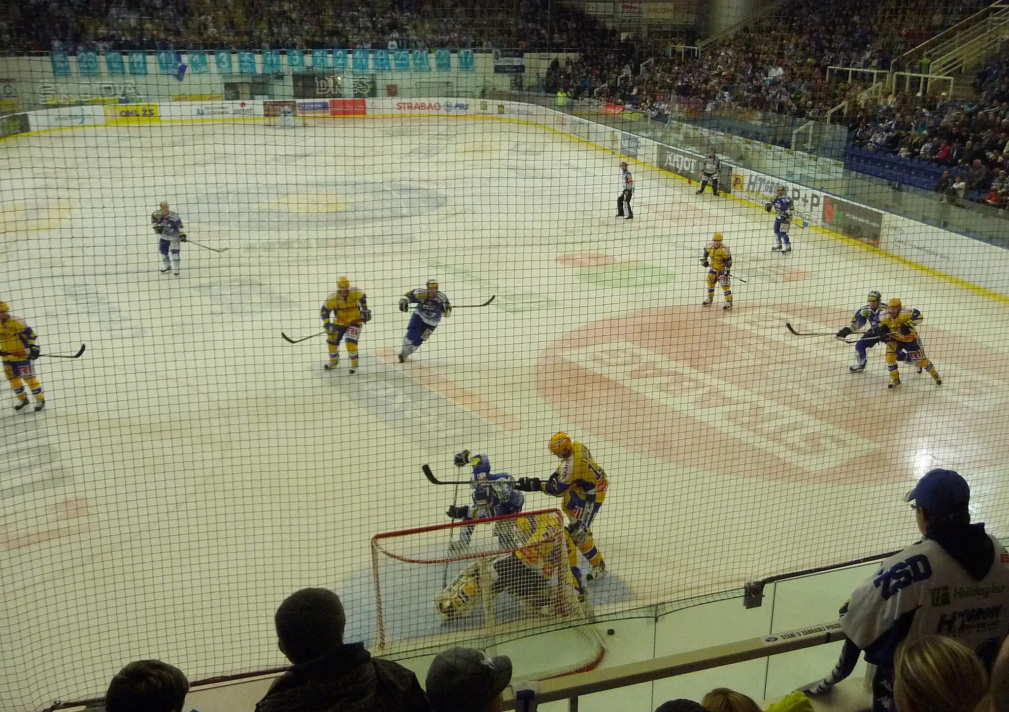
[[[514,520],[516,551],[494,558],[488,567],[490,593],[508,591],[530,611],[543,615],[569,615],[567,602],[582,600],[584,589],[578,569],[578,554],[557,514],[527,514]],[[438,613],[446,620],[465,614],[480,601],[483,590],[480,563],[463,569],[435,594]]]

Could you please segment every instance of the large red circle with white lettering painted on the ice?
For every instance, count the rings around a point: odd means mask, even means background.
[[[1009,359],[925,327],[943,385],[902,363],[904,385],[888,390],[885,347],[853,374],[853,346],[784,326],[832,331],[850,318],[790,305],[636,312],[550,346],[539,387],[596,437],[726,474],[886,481],[938,464],[1001,467]]]

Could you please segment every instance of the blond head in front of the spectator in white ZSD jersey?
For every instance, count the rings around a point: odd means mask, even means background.
[[[897,712],[973,712],[988,692],[985,667],[950,637],[904,640],[894,655]]]

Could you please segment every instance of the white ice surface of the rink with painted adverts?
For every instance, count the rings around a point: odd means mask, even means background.
[[[771,216],[640,164],[636,218],[614,219],[618,161],[450,117],[0,144],[0,299],[43,351],[88,345],[37,362],[45,410],[9,391],[0,410],[0,707],[100,694],[138,658],[190,679],[282,665],[273,610],[309,585],[371,639],[369,538],[448,520],[421,464],[454,475],[468,448],[546,478],[558,430],[609,476],[601,613],[898,549],[902,495],[938,465],[1005,533],[1004,304],[811,230],[772,253]],[[184,245],[160,274],[161,200],[227,252]],[[715,230],[746,280],[727,313],[700,306]],[[341,274],[374,312],[354,376],[345,355],[323,371],[323,338],[281,339],[321,330]],[[429,277],[496,299],[398,364],[398,299]],[[941,387],[905,365],[888,390],[882,347],[851,374],[851,346],[785,331],[834,331],[872,288],[922,311]]]

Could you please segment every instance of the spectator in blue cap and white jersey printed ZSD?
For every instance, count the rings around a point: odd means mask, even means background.
[[[971,523],[967,480],[952,470],[929,470],[904,501],[922,538],[880,564],[842,606],[849,639],[830,675],[807,694],[847,678],[865,652],[876,666],[873,710],[891,712],[894,652],[901,641],[945,635],[990,669],[1009,633],[1009,554],[983,523]]]

